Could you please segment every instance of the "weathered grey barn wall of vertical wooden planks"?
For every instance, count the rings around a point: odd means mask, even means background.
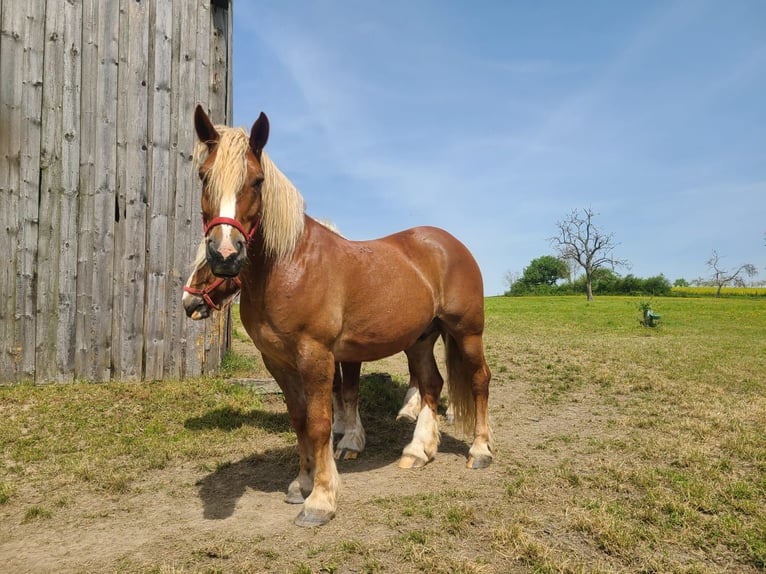
[[[215,370],[188,320],[193,110],[231,121],[222,0],[0,0],[0,383]]]

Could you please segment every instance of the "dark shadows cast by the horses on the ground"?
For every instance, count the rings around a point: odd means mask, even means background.
[[[338,472],[367,472],[388,466],[398,460],[401,449],[411,440],[414,424],[397,421],[396,412],[361,412],[367,434],[367,445],[359,458],[338,461]],[[201,417],[190,418],[186,428],[203,430],[220,428],[234,430],[243,425],[260,427],[268,432],[289,432],[286,413],[254,409],[241,413],[225,407],[214,409]],[[444,430],[451,426],[442,425]],[[442,432],[440,453],[465,456],[468,445],[464,440]],[[411,472],[411,471],[402,471]],[[232,516],[237,501],[248,488],[261,492],[286,492],[287,485],[298,474],[298,448],[286,446],[268,449],[237,462],[221,465],[197,482],[204,506],[204,518],[221,520]]]

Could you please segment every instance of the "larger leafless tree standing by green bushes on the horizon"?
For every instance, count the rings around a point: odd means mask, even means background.
[[[556,223],[558,235],[549,239],[561,259],[574,261],[582,267],[588,301],[593,300],[592,280],[596,269],[630,266],[626,260],[614,257],[614,248],[619,244],[614,242],[614,234],[605,233],[594,225],[595,217],[596,213],[590,207],[583,209],[582,214],[574,209]]]

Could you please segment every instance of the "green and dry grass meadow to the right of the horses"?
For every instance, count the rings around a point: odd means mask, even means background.
[[[763,570],[766,304],[656,298],[653,329],[639,325],[637,307],[614,297],[487,301],[490,334],[503,334],[488,337],[491,352],[510,362],[501,384],[528,383],[554,414],[581,404],[612,417],[591,436],[538,444],[567,453],[546,474],[571,492],[568,529],[625,570],[713,572],[673,555],[721,548]],[[515,480],[510,498],[533,495]],[[641,558],[657,547],[668,555]],[[530,563],[542,568],[539,558]]]

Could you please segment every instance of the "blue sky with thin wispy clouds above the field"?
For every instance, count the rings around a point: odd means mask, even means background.
[[[234,3],[234,123],[350,239],[436,225],[500,294],[592,207],[633,273],[766,278],[766,2]]]

